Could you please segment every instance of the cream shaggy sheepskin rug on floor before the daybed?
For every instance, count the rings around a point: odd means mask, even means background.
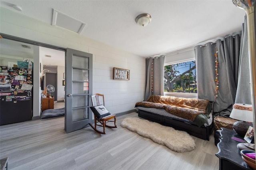
[[[121,127],[150,138],[175,152],[187,152],[196,148],[194,139],[187,132],[175,130],[172,127],[166,127],[138,117],[125,118],[121,123]]]

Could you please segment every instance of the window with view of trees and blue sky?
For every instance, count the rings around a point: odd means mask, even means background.
[[[164,66],[164,92],[197,93],[195,60]]]

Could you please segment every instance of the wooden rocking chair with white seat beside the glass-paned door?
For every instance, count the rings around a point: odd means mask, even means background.
[[[105,101],[104,101],[104,95],[96,93],[95,95],[91,96],[92,98],[92,106],[98,106],[100,103],[103,103],[103,106],[105,106]],[[114,119],[114,121],[111,121],[111,119]],[[114,122],[114,126],[109,126],[106,125],[108,122]],[[117,128],[116,127],[116,115],[107,115],[105,117],[97,117],[94,113],[94,126],[89,123],[89,125],[98,133],[100,134],[106,134],[105,132],[105,127],[109,128]],[[97,129],[97,126],[103,127],[103,131],[100,131]]]

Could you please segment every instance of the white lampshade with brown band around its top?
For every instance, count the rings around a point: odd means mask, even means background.
[[[235,103],[230,117],[240,121],[253,122],[252,105]]]

